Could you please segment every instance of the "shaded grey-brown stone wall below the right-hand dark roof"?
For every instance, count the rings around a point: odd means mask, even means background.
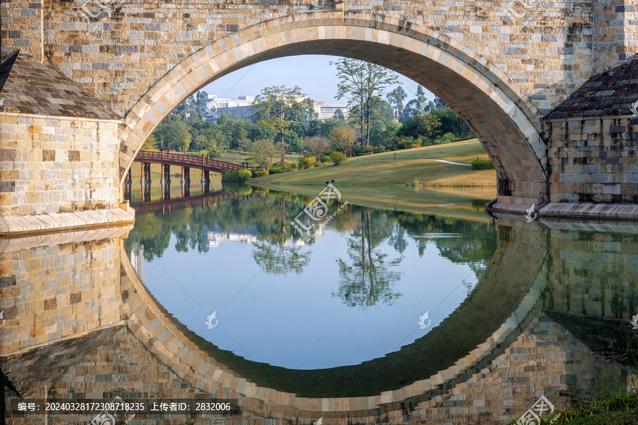
[[[552,202],[638,203],[638,119],[552,121]]]

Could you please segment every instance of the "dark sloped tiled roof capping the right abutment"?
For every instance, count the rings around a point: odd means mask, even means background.
[[[638,57],[595,74],[547,118],[633,115],[638,107]],[[634,106],[635,105],[635,106]]]

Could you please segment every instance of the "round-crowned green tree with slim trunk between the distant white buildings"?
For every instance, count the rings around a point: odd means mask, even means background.
[[[299,113],[299,104],[304,97],[306,96],[301,93],[298,86],[292,89],[286,86],[272,86],[262,89],[261,94],[255,97],[252,103],[253,116],[257,123],[276,130],[281,147],[281,166],[284,166],[286,159],[284,136],[288,134],[290,120]]]

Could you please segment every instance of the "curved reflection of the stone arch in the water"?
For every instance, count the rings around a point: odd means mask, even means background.
[[[125,254],[123,314],[133,334],[164,365],[204,392],[241,399],[246,412],[303,424],[322,412],[332,412],[335,419],[378,419],[389,412],[410,410],[469,379],[491,362],[491,356],[502,352],[505,343],[520,333],[519,325],[530,319],[546,285],[547,249],[530,244],[526,237],[519,238],[525,239],[522,243],[503,236],[481,282],[453,314],[401,351],[362,365],[289,370],[220,350],[157,303]],[[502,308],[495,310],[495,302]]]

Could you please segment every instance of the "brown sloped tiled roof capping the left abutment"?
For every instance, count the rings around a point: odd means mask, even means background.
[[[121,120],[54,64],[16,50],[0,62],[0,111]]]

